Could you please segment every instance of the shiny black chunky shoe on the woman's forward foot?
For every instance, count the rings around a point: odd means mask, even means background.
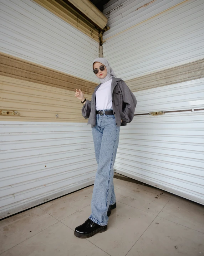
[[[85,223],[75,228],[74,235],[79,238],[88,238],[94,236],[96,233],[105,232],[106,226],[101,226],[93,222],[91,219],[87,219]]]

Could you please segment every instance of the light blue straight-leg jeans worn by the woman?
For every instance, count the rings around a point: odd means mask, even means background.
[[[108,207],[116,202],[113,165],[116,159],[120,131],[120,127],[116,126],[114,115],[105,115],[104,111],[103,115],[96,115],[96,126],[92,128],[98,168],[91,201],[92,213],[89,217],[101,226],[107,225]]]

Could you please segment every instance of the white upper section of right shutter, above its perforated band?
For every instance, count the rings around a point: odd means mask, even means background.
[[[109,1],[104,57],[124,80],[202,59],[203,12],[203,0]]]

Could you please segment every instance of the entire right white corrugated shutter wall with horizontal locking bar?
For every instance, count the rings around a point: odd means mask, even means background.
[[[188,73],[182,67],[158,72],[204,58],[204,1],[112,0],[105,7],[110,30],[103,35],[103,54],[117,77],[138,90],[135,113],[204,108],[204,78],[193,80],[195,63],[189,82],[173,84]],[[143,87],[137,84],[142,76]],[[145,81],[161,87],[143,90]],[[121,127],[114,168],[204,204],[203,127],[202,111],[135,116]]]

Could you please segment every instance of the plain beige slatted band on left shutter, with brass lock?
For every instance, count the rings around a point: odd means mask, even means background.
[[[1,115],[0,121],[87,122],[73,91],[4,76],[0,84],[0,110],[20,112],[20,116]]]

